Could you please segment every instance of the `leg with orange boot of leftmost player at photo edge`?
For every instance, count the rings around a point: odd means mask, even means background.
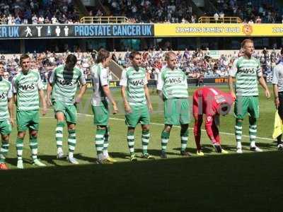
[[[0,170],[7,170],[5,159],[9,148],[9,136],[12,131],[11,123],[8,121],[0,122],[0,133],[1,133],[1,148],[0,148]]]

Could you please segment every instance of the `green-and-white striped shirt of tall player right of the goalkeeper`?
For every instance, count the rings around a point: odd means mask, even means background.
[[[229,75],[236,77],[235,90],[237,96],[258,95],[258,77],[262,76],[258,59],[239,57],[234,61]]]

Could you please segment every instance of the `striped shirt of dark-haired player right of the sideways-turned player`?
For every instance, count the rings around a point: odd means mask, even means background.
[[[146,95],[144,93],[144,85],[146,84],[146,71],[143,68],[139,67],[139,70],[136,71],[133,67],[129,67],[122,71],[120,86],[127,88],[129,105],[146,105]]]

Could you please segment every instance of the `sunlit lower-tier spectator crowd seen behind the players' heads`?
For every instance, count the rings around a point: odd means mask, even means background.
[[[146,69],[146,73],[149,79],[157,79],[158,73],[160,73],[163,66],[166,66],[164,57],[167,51],[162,49],[149,49],[142,52],[143,66]],[[127,68],[130,65],[129,51],[127,52],[112,52],[112,60],[116,61],[123,68]],[[64,53],[52,53],[42,52],[30,54],[32,58],[31,69],[37,69],[40,71],[42,81],[47,81],[51,71],[58,65],[64,64],[65,59],[69,52]],[[77,66],[83,70],[85,77],[90,79],[90,68],[93,64],[95,55],[92,52],[76,52],[74,53],[78,59]],[[212,51],[209,49],[195,51],[188,51],[185,49],[183,52],[176,52],[178,59],[178,68],[182,69],[187,78],[215,78],[228,76],[229,70],[232,67],[233,61],[241,55],[239,52],[233,52],[228,54],[221,54],[219,57],[212,57]],[[279,62],[280,55],[278,51],[273,49],[268,51],[263,49],[257,51],[253,55],[260,60],[262,65],[262,71],[265,76],[272,74],[273,67]],[[5,56],[1,55],[0,61],[4,61],[4,77],[11,80],[13,76],[20,71],[19,55]]]

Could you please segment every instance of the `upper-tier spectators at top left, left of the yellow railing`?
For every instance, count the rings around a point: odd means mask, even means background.
[[[79,23],[72,0],[0,0],[1,24]]]

